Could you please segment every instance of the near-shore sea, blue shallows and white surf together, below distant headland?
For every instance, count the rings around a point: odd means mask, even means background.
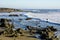
[[[9,14],[18,14],[18,16],[8,16]],[[22,14],[22,16],[20,15]],[[32,20],[25,20],[26,18],[32,18]],[[60,22],[59,21],[59,13],[55,14],[42,14],[42,13],[27,13],[27,12],[13,12],[13,13],[0,13],[0,19],[11,19],[13,22],[13,25],[15,29],[22,28],[25,29],[26,26],[32,26],[32,27],[46,27],[46,26],[54,26],[58,30],[60,30]],[[49,20],[46,20],[48,18]],[[22,20],[19,20],[22,19]],[[53,19],[53,20],[50,20]],[[57,21],[54,21],[56,20]],[[57,31],[58,34],[60,34],[60,31]]]

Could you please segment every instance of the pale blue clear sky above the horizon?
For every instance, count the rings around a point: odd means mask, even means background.
[[[0,8],[60,9],[60,0],[0,0]]]

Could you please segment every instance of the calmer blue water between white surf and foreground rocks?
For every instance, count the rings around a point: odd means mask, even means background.
[[[8,15],[6,16],[6,15],[3,15],[3,16],[0,16],[0,18],[11,19],[14,26],[15,26],[15,28],[25,29],[26,26],[32,26],[32,27],[54,26],[58,30],[60,29],[60,24],[42,21],[41,19],[38,19],[38,18],[32,18],[31,20],[25,20],[26,18],[28,18],[28,16],[26,16],[24,14],[19,15],[19,16],[8,16]],[[21,20],[19,20],[19,19],[21,19]]]

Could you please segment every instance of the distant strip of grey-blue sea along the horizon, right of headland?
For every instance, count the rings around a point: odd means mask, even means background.
[[[33,13],[60,12],[60,9],[24,9]]]

